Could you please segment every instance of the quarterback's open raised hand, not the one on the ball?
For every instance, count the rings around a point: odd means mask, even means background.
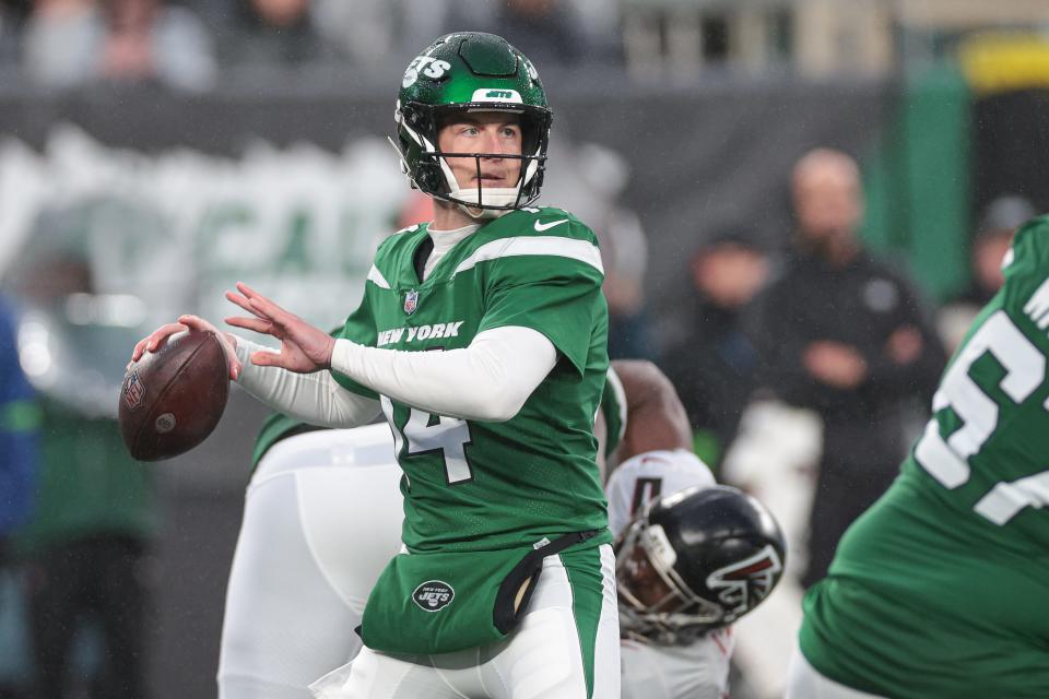
[[[237,283],[237,291],[239,294],[226,292],[226,298],[251,316],[234,316],[226,318],[226,322],[281,341],[279,353],[256,352],[251,355],[252,364],[282,367],[302,374],[331,366],[331,352],[335,346],[331,335],[284,310],[243,282]]]

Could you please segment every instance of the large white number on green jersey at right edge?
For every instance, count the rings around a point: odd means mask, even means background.
[[[915,459],[945,488],[954,489],[971,475],[968,459],[977,453],[998,427],[998,404],[969,377],[969,369],[986,352],[1005,369],[999,387],[1022,403],[1046,378],[1046,358],[1016,328],[1005,311],[987,319],[943,377],[932,399],[933,413],[946,407],[964,425],[946,440],[935,416],[915,447]],[[1027,506],[1049,503],[1049,471],[1013,483],[999,483],[976,503],[975,510],[995,524],[1005,524]]]

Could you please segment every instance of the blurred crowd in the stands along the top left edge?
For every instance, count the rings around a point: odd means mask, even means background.
[[[205,91],[226,69],[400,66],[406,51],[463,26],[528,46],[542,66],[609,64],[621,54],[616,8],[609,0],[2,0],[0,67],[45,88],[103,81]]]

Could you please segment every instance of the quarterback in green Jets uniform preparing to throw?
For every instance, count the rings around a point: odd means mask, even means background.
[[[486,34],[404,73],[402,164],[435,217],[387,239],[332,337],[250,287],[227,297],[279,352],[223,334],[271,406],[350,427],[380,410],[404,471],[404,553],[364,648],[320,697],[618,696],[611,534],[593,416],[608,367],[596,238],[539,196],[550,109],[534,67]],[[135,347],[155,350],[184,316]]]

